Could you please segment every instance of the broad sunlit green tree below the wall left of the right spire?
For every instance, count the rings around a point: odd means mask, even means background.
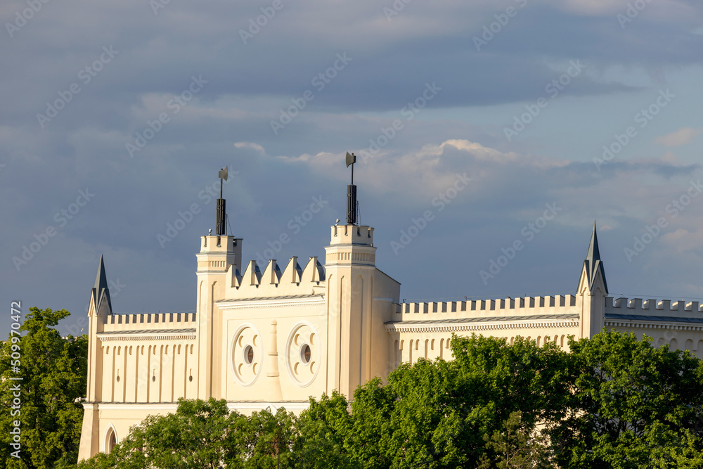
[[[402,364],[388,385],[375,380],[354,393],[352,432],[345,444],[353,461],[373,468],[476,467],[496,450],[484,435],[520,411],[521,425],[565,416],[573,366],[548,342],[454,336],[454,359]]]

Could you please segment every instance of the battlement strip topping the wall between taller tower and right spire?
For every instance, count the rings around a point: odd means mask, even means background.
[[[432,314],[455,319],[481,316],[530,316],[578,312],[578,297],[548,295],[538,297],[501,298],[496,300],[466,300],[452,302],[420,302],[396,304],[396,314],[403,320],[415,320],[415,314]]]

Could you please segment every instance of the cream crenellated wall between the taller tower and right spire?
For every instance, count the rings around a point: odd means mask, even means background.
[[[389,333],[389,361],[414,363],[419,358],[451,359],[452,333],[556,342],[568,349],[567,338],[581,337],[582,299],[574,295],[467,300],[459,302],[402,303],[396,306]]]

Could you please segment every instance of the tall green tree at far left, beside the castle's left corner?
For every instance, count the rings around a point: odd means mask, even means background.
[[[83,407],[75,400],[86,392],[88,338],[61,338],[55,327],[69,315],[65,309],[32,307],[19,329],[24,334],[11,333],[2,346],[0,402],[8,409],[0,414],[2,467],[75,467],[83,423]],[[20,354],[19,373],[13,371],[13,353]],[[6,379],[17,376],[22,380]],[[18,383],[20,414],[13,416],[9,409]],[[11,456],[13,420],[21,423],[20,458]]]

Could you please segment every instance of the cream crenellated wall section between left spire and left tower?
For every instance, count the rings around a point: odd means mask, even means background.
[[[97,339],[102,364],[98,401],[196,397],[195,314],[110,314]]]

